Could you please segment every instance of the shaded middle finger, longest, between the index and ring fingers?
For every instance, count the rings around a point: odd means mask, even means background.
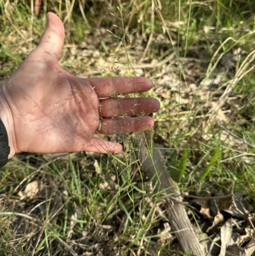
[[[100,101],[102,117],[132,116],[157,112],[160,103],[154,98],[108,98]]]

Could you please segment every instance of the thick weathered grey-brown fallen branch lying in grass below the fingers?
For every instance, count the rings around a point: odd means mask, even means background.
[[[168,195],[166,197],[166,204],[168,204],[166,205],[166,211],[168,212],[171,228],[175,232],[180,246],[186,253],[205,255],[205,249],[198,242],[191,222],[189,222],[185,206],[180,204],[182,197],[179,188],[166,170],[161,151],[150,146],[150,132],[141,132],[138,139],[135,140],[135,144],[139,148],[136,151],[136,156],[142,164],[143,170],[145,170],[149,179],[152,179],[157,191],[161,191],[163,195]]]

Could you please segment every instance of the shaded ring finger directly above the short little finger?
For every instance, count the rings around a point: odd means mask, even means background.
[[[112,135],[115,133],[145,131],[152,128],[153,125],[154,120],[149,116],[104,118],[101,122],[101,134]]]

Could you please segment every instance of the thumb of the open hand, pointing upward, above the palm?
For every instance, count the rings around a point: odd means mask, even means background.
[[[38,49],[59,56],[64,44],[64,26],[54,13],[47,13],[47,27],[41,36]]]

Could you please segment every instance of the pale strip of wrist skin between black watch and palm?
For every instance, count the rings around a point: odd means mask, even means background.
[[[6,81],[0,86],[0,119],[4,124],[8,135],[8,144],[10,147],[10,154],[8,155],[8,159],[10,159],[16,152],[15,150],[15,133],[13,126],[13,116],[11,114],[10,107],[6,100],[4,93],[6,90]]]

